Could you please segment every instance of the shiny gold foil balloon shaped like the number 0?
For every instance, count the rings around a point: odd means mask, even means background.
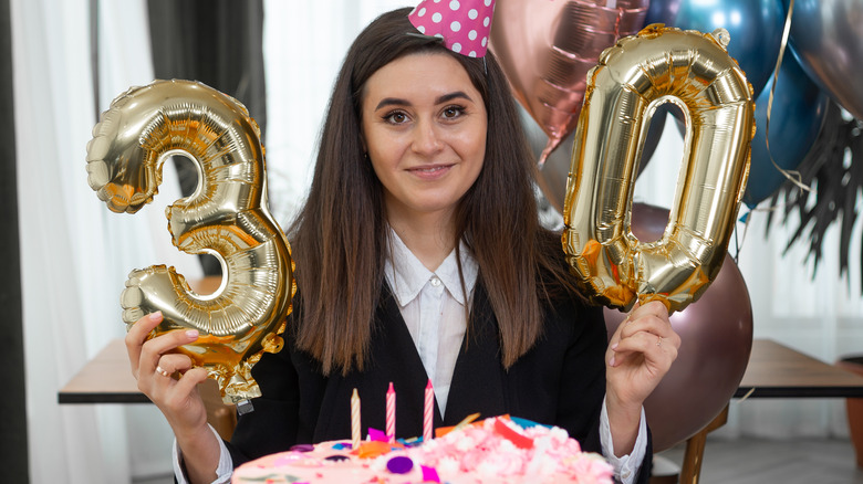
[[[653,24],[606,49],[588,73],[563,249],[595,302],[628,309],[637,296],[680,311],[719,272],[755,134],[751,86],[727,43],[724,29],[703,34]],[[685,114],[685,159],[663,238],[641,243],[630,225],[636,164],[662,103]]]

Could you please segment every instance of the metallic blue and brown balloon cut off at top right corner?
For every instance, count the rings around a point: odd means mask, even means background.
[[[789,45],[807,74],[863,119],[863,1],[796,0]]]

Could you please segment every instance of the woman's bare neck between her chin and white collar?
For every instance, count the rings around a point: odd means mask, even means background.
[[[387,220],[402,242],[429,271],[437,270],[455,248],[451,214],[397,217],[388,213]]]

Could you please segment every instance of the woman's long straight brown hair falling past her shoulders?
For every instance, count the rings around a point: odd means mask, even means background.
[[[361,106],[366,81],[402,56],[453,56],[485,101],[486,159],[456,210],[455,246],[464,240],[479,264],[506,367],[541,335],[541,299],[574,291],[561,262],[560,236],[539,222],[536,165],[503,72],[490,52],[485,59],[468,57],[420,35],[407,19],[409,11],[378,17],[349,50],[330,99],[309,198],[289,231],[300,297],[297,343],[326,375],[362,370],[368,358],[388,232],[383,189],[364,156]]]

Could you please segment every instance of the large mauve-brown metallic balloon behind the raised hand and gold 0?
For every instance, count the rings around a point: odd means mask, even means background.
[[[633,232],[640,239],[659,239],[667,219],[667,210],[633,204]],[[746,372],[752,349],[752,305],[740,271],[726,257],[704,296],[670,316],[672,327],[680,335],[680,349],[644,402],[654,452],[674,446],[710,423]],[[605,308],[610,337],[625,316]]]

